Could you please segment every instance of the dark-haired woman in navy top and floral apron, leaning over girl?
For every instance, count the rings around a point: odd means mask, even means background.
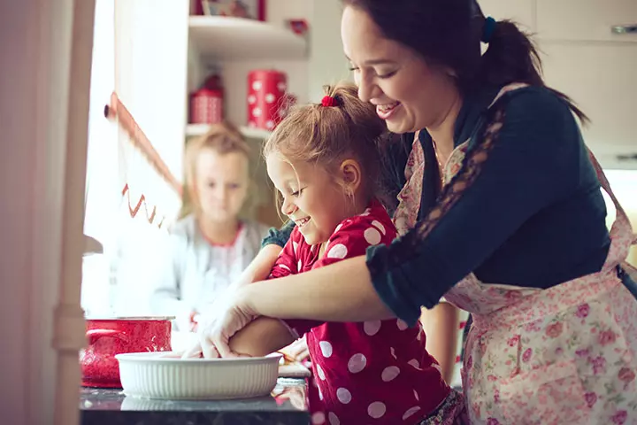
[[[366,258],[242,287],[203,342],[232,355],[227,338],[257,315],[412,324],[444,295],[472,313],[472,422],[637,421],[633,232],[615,199],[605,226],[600,182],[610,188],[573,117],[584,114],[545,87],[518,27],[475,3],[344,4],[359,97],[403,135],[386,155],[411,151],[396,213],[406,233]]]

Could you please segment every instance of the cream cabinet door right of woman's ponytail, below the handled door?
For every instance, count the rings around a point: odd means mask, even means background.
[[[590,117],[584,135],[595,153],[637,151],[637,42],[541,41],[540,48],[547,84]]]

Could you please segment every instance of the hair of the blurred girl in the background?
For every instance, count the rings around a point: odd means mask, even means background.
[[[204,149],[211,149],[219,155],[239,152],[247,159],[250,154],[249,145],[239,129],[227,121],[212,124],[205,135],[188,141],[184,151],[184,188],[180,218],[196,211],[196,204],[199,202],[195,195],[196,160]]]

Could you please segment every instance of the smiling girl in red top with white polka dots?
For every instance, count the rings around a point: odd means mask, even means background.
[[[344,84],[328,89],[322,104],[297,109],[280,123],[264,155],[282,197],[281,212],[296,226],[271,278],[364,255],[368,247],[394,240],[395,227],[374,197],[374,141],[385,132],[373,106]],[[311,303],[311,294],[303,302]],[[312,423],[461,422],[461,396],[426,352],[419,325],[259,319],[234,336],[230,347],[264,354],[303,334],[317,385],[311,388]]]

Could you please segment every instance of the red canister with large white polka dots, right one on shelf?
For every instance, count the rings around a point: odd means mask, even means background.
[[[248,126],[272,130],[288,109],[288,77],[273,69],[248,74]]]

